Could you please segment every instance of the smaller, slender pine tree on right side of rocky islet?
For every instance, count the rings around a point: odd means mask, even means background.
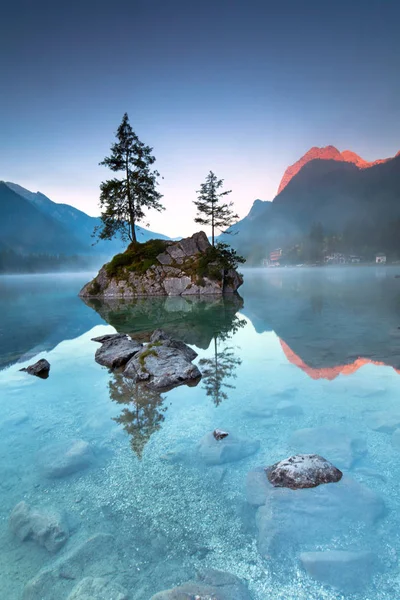
[[[197,191],[197,200],[194,201],[197,207],[197,216],[195,222],[200,225],[211,227],[212,245],[215,242],[215,229],[220,229],[224,233],[230,233],[229,228],[238,220],[239,216],[233,210],[233,202],[221,203],[221,199],[231,193],[232,190],[218,192],[224,183],[223,179],[217,179],[212,171],[201,184]]]

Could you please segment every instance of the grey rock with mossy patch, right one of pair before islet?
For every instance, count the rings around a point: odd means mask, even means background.
[[[161,345],[135,354],[126,365],[124,376],[144,381],[156,390],[167,390],[178,385],[196,385],[201,373],[181,350]]]

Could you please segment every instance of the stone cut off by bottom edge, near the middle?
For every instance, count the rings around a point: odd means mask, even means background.
[[[159,592],[150,600],[251,600],[251,596],[235,575],[209,569],[195,581]]]

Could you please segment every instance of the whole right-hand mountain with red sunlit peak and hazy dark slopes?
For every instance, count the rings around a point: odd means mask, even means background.
[[[260,264],[279,247],[297,248],[292,262],[315,262],[313,228],[321,239],[330,238],[331,252],[370,259],[382,251],[400,258],[400,154],[366,167],[357,166],[362,159],[348,151],[341,154],[333,146],[317,150],[323,151],[317,153],[320,157],[307,160],[295,174],[289,172],[290,179],[272,202],[256,200],[236,224],[237,235],[221,239],[250,264]],[[314,156],[314,149],[310,153],[305,156]]]

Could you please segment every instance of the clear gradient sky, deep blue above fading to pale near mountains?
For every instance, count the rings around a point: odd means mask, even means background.
[[[210,170],[244,217],[311,146],[400,149],[398,0],[5,0],[0,22],[0,179],[91,215],[124,112],[172,237]]]

